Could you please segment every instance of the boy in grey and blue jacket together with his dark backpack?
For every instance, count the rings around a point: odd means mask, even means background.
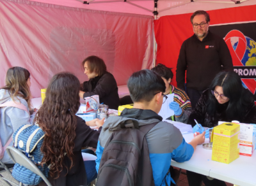
[[[189,161],[204,132],[186,143],[179,129],[157,113],[167,98],[165,84],[154,71],[133,73],[127,83],[132,109],[109,117],[100,132],[96,154],[97,185],[175,185],[172,159]]]

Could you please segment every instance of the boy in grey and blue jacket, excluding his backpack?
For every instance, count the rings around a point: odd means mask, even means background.
[[[170,173],[168,173],[172,159],[177,162],[189,161],[196,145],[204,143],[205,132],[195,136],[190,143],[186,143],[179,129],[168,122],[162,122],[163,118],[157,113],[159,113],[165,101],[166,96],[163,92],[165,92],[166,87],[161,76],[154,71],[143,69],[133,73],[127,85],[134,107],[125,109],[120,116],[109,117],[102,126],[96,150],[98,157],[96,170],[99,171],[100,159],[106,142],[113,129],[122,120],[133,118],[138,120],[139,125],[158,122],[145,136],[148,143],[154,183],[156,186],[166,185],[164,182],[165,177],[168,186],[175,184]]]

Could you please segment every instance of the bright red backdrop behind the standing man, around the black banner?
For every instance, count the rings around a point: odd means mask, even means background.
[[[248,23],[248,22],[256,22],[256,14],[253,13],[255,11],[256,5],[253,6],[241,6],[237,8],[226,8],[221,10],[212,10],[207,11],[211,17],[211,25],[218,24],[238,24],[239,22]],[[157,63],[165,64],[166,66],[173,68],[173,73],[175,74],[177,59],[179,57],[179,50],[183,43],[183,41],[190,36],[193,35],[193,28],[190,22],[190,17],[192,13],[186,13],[182,15],[169,15],[159,18],[159,20],[154,21],[154,31],[157,42]],[[213,27],[212,27],[213,28]],[[236,28],[236,26],[235,26]],[[256,27],[251,27],[251,31],[256,36]],[[216,32],[218,34],[218,32]],[[228,34],[228,32],[227,32]],[[224,38],[225,36],[223,36]],[[239,36],[237,36],[239,37]],[[254,40],[255,41],[255,40]],[[230,40],[226,41],[227,44]],[[249,44],[249,43],[248,43]],[[230,53],[232,54],[233,62],[237,61],[237,54],[234,52],[234,48],[232,45],[228,45],[230,49]],[[253,47],[253,46],[252,46]],[[255,50],[255,49],[253,49]],[[252,52],[252,61],[254,61],[254,66],[256,65],[256,51]],[[253,54],[254,53],[254,54]],[[200,54],[198,54],[200,55]],[[244,54],[245,55],[245,54]],[[253,57],[254,56],[254,57]],[[248,64],[244,64],[248,66]],[[250,64],[252,65],[252,64]],[[234,63],[234,66],[237,66]],[[243,66],[243,64],[239,64],[239,66]],[[255,93],[256,83],[254,80],[255,77],[246,78],[242,80],[246,87],[250,89],[253,94]],[[176,77],[173,77],[173,85],[177,85]]]

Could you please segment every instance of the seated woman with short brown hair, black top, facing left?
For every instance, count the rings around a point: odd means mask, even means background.
[[[92,55],[84,59],[82,64],[84,74],[88,76],[89,81],[83,83],[79,96],[84,99],[84,97],[99,95],[100,103],[117,110],[120,105],[118,87],[115,77],[107,71],[105,62]]]

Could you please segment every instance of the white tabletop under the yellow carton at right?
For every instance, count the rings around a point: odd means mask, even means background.
[[[183,137],[186,142],[190,142],[193,139],[193,133],[184,134]],[[209,139],[205,139],[205,143],[209,143]],[[182,163],[172,161],[172,166],[239,186],[256,185],[256,152],[252,157],[240,155],[230,164],[212,161],[211,157],[212,150],[206,150],[202,145],[198,145],[189,161]]]

